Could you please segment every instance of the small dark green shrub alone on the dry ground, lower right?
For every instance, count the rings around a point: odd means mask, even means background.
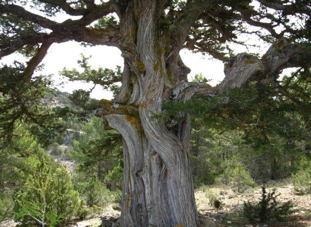
[[[252,205],[249,201],[244,202],[243,215],[250,221],[260,220],[266,222],[270,220],[281,221],[292,213],[291,201],[279,206],[275,189],[267,194],[266,188],[262,187],[262,197],[258,204]]]

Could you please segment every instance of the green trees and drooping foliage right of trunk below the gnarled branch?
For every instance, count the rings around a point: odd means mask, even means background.
[[[256,181],[290,176],[304,156],[301,144],[311,137],[310,78],[307,69],[284,77],[282,94],[253,82],[243,90],[232,89],[227,99],[165,103],[158,116],[163,122],[192,116],[190,159],[195,187],[213,184],[219,177],[229,184],[237,163],[243,163]]]

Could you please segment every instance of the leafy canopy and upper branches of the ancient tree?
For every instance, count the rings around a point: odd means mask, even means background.
[[[137,43],[137,30],[133,29],[138,27],[134,26],[132,30],[128,30],[124,13],[127,8],[138,4],[137,0],[2,1],[0,3],[0,57],[18,51],[28,59],[26,63],[15,62],[12,65],[1,66],[0,92],[5,99],[1,101],[3,103],[1,112],[7,113],[13,106],[23,105],[22,110],[19,108],[19,116],[10,111],[11,120],[7,121],[5,126],[1,126],[2,129],[6,128],[5,133],[16,119],[30,115],[27,114],[27,111],[31,112],[27,103],[31,100],[25,96],[34,88],[44,86],[43,80],[33,78],[32,74],[35,69],[38,69],[40,61],[54,42],[75,40],[85,45],[115,46],[122,51],[122,56],[125,58],[136,59],[136,65],[132,65],[131,70],[144,71],[145,66],[135,50],[139,43]],[[151,7],[151,4],[149,6]],[[309,0],[158,0],[157,6],[157,32],[159,33],[157,36],[165,37],[168,43],[165,48],[167,59],[181,48],[188,48],[230,62],[234,57],[233,44],[250,47],[255,43],[244,42],[241,37],[257,37],[267,43],[279,40],[278,44],[262,58],[263,62],[269,60],[268,65],[265,65],[264,69],[260,66],[260,71],[265,72],[264,77],[269,81],[275,81],[285,67],[310,66],[311,3]],[[59,13],[66,14],[68,19],[56,22],[55,16]],[[137,7],[133,15],[134,21],[139,20],[140,13]],[[73,16],[78,16],[78,19]],[[105,88],[122,80],[120,69],[115,72],[101,68],[94,70],[87,66],[86,61],[87,58],[83,57],[79,62],[84,72],[64,70],[62,74],[70,80],[94,82]],[[255,64],[257,59],[251,57],[248,63],[252,63],[251,61]],[[276,68],[271,68],[272,66]],[[258,73],[258,69],[256,72]],[[250,75],[251,72],[248,74]],[[171,79],[176,80],[176,78]],[[126,87],[125,83],[123,87]],[[221,86],[220,90],[222,90]],[[121,89],[123,96],[125,92],[130,91]],[[10,100],[5,98],[7,96],[10,96]],[[15,99],[12,100],[14,96]],[[33,94],[31,96],[35,97]],[[17,99],[22,100],[18,102]],[[120,96],[116,98],[117,101],[121,101],[120,99]]]

